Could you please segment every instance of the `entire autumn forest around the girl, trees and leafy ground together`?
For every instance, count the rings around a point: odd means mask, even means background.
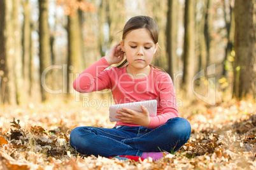
[[[157,162],[81,155],[72,129],[113,127],[113,100],[73,80],[136,15],[159,25],[153,65],[172,77],[190,139]],[[256,0],[0,0],[0,169],[255,169],[255,28]]]

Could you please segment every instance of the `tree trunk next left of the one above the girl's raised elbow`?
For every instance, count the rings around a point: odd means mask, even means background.
[[[52,89],[52,70],[44,72],[52,64],[48,25],[48,0],[39,0],[39,60],[42,101],[46,101],[50,98],[49,89]]]

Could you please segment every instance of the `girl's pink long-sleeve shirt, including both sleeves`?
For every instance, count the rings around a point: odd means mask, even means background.
[[[126,67],[109,67],[104,57],[85,69],[74,81],[73,87],[81,93],[110,89],[115,104],[157,100],[157,116],[150,117],[148,127],[155,129],[170,118],[178,117],[173,81],[169,74],[154,67],[145,78],[134,79]],[[117,125],[138,126],[117,122]]]

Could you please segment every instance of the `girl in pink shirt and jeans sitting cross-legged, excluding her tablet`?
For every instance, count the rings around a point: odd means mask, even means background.
[[[157,160],[163,157],[162,152],[174,153],[188,141],[191,127],[178,117],[171,77],[150,65],[157,47],[158,28],[153,19],[132,17],[124,26],[122,41],[76,78],[76,91],[111,89],[116,104],[158,102],[156,117],[150,117],[143,106],[142,113],[122,108],[118,111],[121,116],[117,116],[120,121],[111,129],[76,127],[70,134],[70,144],[77,152]],[[106,69],[122,61],[124,53],[126,65],[123,62],[120,67]]]

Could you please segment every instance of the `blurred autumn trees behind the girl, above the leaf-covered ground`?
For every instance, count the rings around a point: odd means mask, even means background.
[[[255,101],[255,0],[1,0],[0,103],[28,104],[76,94],[72,83],[122,38],[125,22],[159,25],[160,57],[177,99],[215,105]],[[178,101],[179,103],[179,101]]]

